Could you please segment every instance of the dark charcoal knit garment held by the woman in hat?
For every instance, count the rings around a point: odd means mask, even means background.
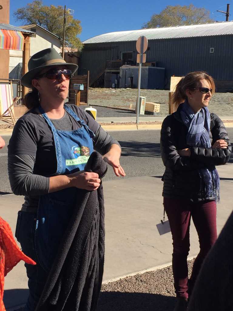
[[[102,178],[107,164],[94,151],[85,170]],[[94,311],[97,307],[104,263],[102,183],[98,190],[79,192],[76,202],[36,311]]]

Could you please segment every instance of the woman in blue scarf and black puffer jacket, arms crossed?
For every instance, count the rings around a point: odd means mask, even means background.
[[[209,113],[215,85],[206,72],[190,72],[176,86],[173,104],[177,110],[164,119],[161,154],[163,204],[173,239],[172,269],[177,304],[187,309],[187,299],[208,251],[217,239],[216,202],[220,199],[215,165],[224,165],[231,144],[222,120]],[[190,219],[199,236],[200,252],[188,281]]]

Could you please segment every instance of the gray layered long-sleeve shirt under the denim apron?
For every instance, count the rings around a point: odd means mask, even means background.
[[[94,132],[95,150],[105,154],[112,144],[119,145],[84,110],[74,105],[69,106]],[[80,128],[80,124],[67,112],[61,119],[51,121],[57,130],[71,131]],[[36,110],[32,110],[18,120],[8,146],[9,180],[13,193],[25,195],[22,210],[37,210],[39,196],[49,192],[47,176],[54,174],[56,169],[52,131],[44,118]]]

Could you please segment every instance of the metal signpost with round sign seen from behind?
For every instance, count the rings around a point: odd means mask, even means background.
[[[148,41],[145,36],[141,36],[137,39],[136,49],[139,53],[139,60],[137,58],[137,63],[139,63],[138,68],[138,100],[137,100],[137,116],[136,116],[136,124],[139,124],[139,104],[140,104],[140,89],[141,89],[141,73],[142,73],[142,63],[146,61],[146,55],[144,52],[148,47]]]

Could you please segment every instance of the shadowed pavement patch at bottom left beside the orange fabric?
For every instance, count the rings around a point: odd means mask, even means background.
[[[4,290],[3,302],[6,309],[16,308],[25,304],[29,295],[28,289]]]

